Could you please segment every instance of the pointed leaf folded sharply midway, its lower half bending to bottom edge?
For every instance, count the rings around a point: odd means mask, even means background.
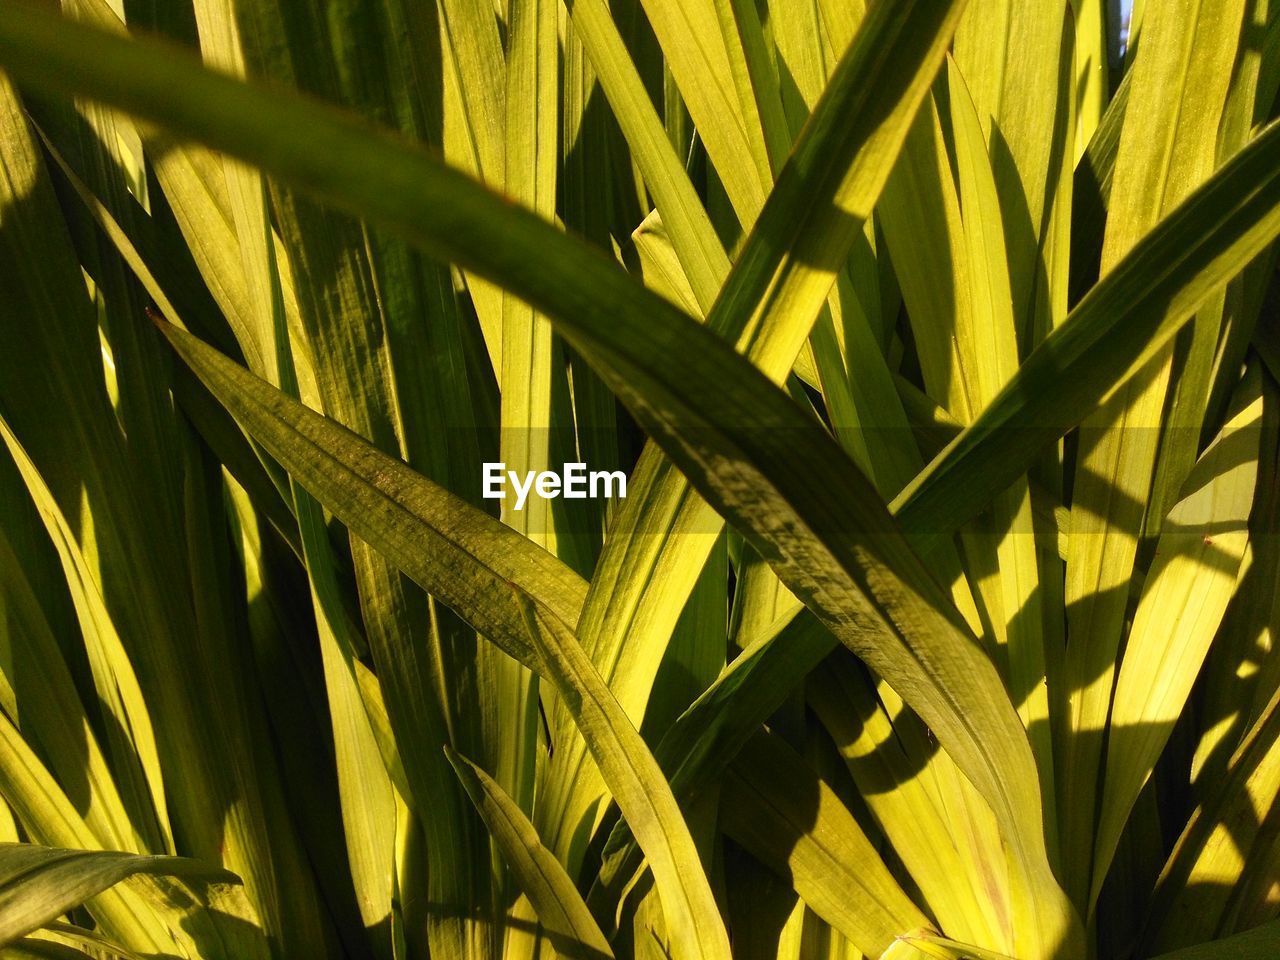
[[[691,951],[689,956],[727,957],[710,888],[698,882],[701,869],[675,799],[566,626],[577,621],[585,593],[577,576],[526,538],[189,334],[175,328],[166,334],[259,442],[352,532],[554,685],[654,864],[677,942]],[[527,598],[536,598],[536,611],[527,609],[532,603]]]

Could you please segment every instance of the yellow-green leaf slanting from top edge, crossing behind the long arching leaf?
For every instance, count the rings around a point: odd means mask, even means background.
[[[886,4],[864,22],[707,315],[709,329],[776,383],[795,364],[861,236],[959,10],[959,3]],[[643,710],[657,652],[719,524],[650,443],[632,472],[581,626],[588,650],[630,716]],[[640,550],[630,549],[634,535],[643,538]],[[554,760],[566,771],[556,780],[570,786],[541,820],[543,836],[571,865],[580,851],[570,846],[585,840],[580,823],[599,803],[598,787],[584,781],[590,772],[581,755],[581,746],[570,744]]]

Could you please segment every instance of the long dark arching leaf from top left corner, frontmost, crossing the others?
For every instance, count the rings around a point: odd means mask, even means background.
[[[938,35],[922,33],[918,24],[900,19],[899,5],[874,9],[922,59],[941,55]],[[943,24],[950,22],[950,13],[942,14]],[[18,33],[22,45],[6,42]],[[31,13],[26,5],[13,5],[0,14],[0,60],[28,78],[38,74],[44,82],[74,76],[77,84],[91,84],[96,77],[99,95],[110,93],[118,104],[134,110],[160,111],[166,122],[252,154],[252,159],[273,169],[287,166],[292,177],[314,188],[340,193],[344,202],[364,212],[402,224],[431,250],[483,265],[558,320],[564,335],[643,415],[646,428],[678,458],[699,490],[736,525],[755,531],[758,545],[768,545],[767,557],[788,588],[820,611],[837,635],[909,695],[909,703],[992,803],[1014,845],[1015,861],[1033,878],[1042,916],[1034,924],[1036,932],[1028,931],[1027,936],[1038,940],[1044,950],[1056,948],[1062,940],[1071,942],[1070,914],[1055,893],[1039,833],[1041,801],[1030,753],[998,677],[972,646],[966,628],[938,613],[950,603],[938,595],[905,541],[884,535],[892,522],[876,493],[783,394],[767,388],[767,380],[714,334],[680,316],[660,298],[644,294],[603,259],[586,253],[531,215],[503,206],[425,155],[370,134],[361,124],[323,108],[292,97],[264,97],[252,87],[182,68],[164,55],[140,59],[134,55],[137,46],[120,46],[120,41],[106,37],[95,41],[92,65],[81,69],[74,49],[82,36],[72,33],[68,24]],[[868,36],[879,35],[873,31]],[[860,56],[879,58],[891,49],[870,41],[855,44],[846,55],[844,77],[847,81],[858,76]],[[27,56],[24,51],[31,50],[40,55]],[[67,70],[59,69],[55,51],[70,55]],[[77,64],[74,70],[69,69],[72,64]],[[188,96],[202,91],[216,96],[202,102],[200,110],[183,114],[180,105],[166,104],[175,73],[187,84]],[[127,90],[116,86],[123,77],[128,78]],[[919,74],[905,79],[923,96]],[[282,100],[289,104],[284,111],[278,109]],[[831,123],[837,123],[835,115]],[[847,123],[847,116],[838,123]],[[298,124],[308,134],[306,148],[291,133]],[[809,129],[820,131],[823,125],[810,124]],[[856,124],[851,129],[856,131]],[[822,145],[820,138],[812,142]],[[879,143],[884,150],[891,146]],[[797,151],[792,163],[805,156],[805,151]],[[348,173],[366,163],[376,168],[376,189],[369,178],[334,178],[333,157],[339,157]],[[878,172],[883,164],[872,168]],[[873,175],[872,168],[855,168],[850,179],[859,191],[878,184],[881,174]],[[832,180],[846,179],[836,172],[826,173]],[[803,186],[804,177],[797,172],[795,187]],[[774,215],[783,212],[787,202],[780,200]],[[502,242],[492,242],[499,233]],[[540,255],[530,256],[539,250]],[[776,251],[763,256],[755,268],[777,256]],[[822,297],[827,287],[829,282],[820,287]],[[608,317],[607,333],[599,329],[603,317]],[[180,337],[175,339],[182,343]],[[189,349],[191,344],[186,346]],[[234,390],[216,392],[224,403],[233,402],[228,394]],[[751,428],[745,429],[744,421]],[[713,445],[703,445],[705,440],[690,443],[705,436],[709,428],[710,435],[718,438]],[[768,465],[768,472],[753,465]],[[394,476],[384,461],[379,461],[378,470],[365,472],[381,472],[388,480]],[[347,506],[353,504],[347,500]],[[385,513],[390,507],[381,509]],[[387,538],[370,539],[379,547]],[[874,603],[863,590],[876,598]],[[887,621],[901,621],[902,626],[891,627]],[[881,639],[884,636],[896,640],[886,645]],[[924,646],[915,652],[914,644]],[[963,705],[955,698],[963,698]]]

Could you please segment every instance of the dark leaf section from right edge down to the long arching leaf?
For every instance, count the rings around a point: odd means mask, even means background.
[[[1280,233],[1277,145],[1280,127],[1260,133],[1089,292],[895,499],[909,531],[932,543],[972,518]]]

